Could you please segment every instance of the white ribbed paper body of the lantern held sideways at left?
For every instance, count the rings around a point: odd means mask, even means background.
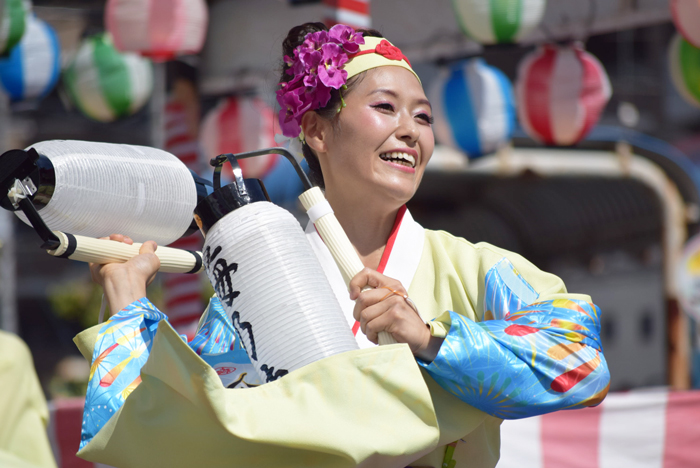
[[[175,156],[145,146],[51,140],[31,146],[53,166],[39,214],[47,226],[88,237],[113,233],[167,245],[190,227],[197,189]],[[46,200],[48,198],[48,200]],[[15,212],[29,224],[24,213]]]

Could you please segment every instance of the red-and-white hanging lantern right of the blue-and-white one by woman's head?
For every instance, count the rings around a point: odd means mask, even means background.
[[[560,146],[581,141],[612,94],[605,69],[580,44],[545,45],[526,56],[515,91],[527,134]]]

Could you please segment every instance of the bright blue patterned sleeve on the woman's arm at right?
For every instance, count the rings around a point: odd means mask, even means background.
[[[484,321],[454,312],[431,363],[447,391],[503,419],[599,404],[610,382],[600,343],[600,310],[575,295],[549,300],[503,259],[486,275]]]

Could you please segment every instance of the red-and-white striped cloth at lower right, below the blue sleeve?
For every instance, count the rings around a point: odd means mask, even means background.
[[[700,467],[700,391],[613,393],[600,406],[504,421],[497,468]]]

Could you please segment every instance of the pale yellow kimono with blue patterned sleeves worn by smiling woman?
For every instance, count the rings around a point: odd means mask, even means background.
[[[486,468],[498,460],[501,417],[602,399],[607,367],[597,309],[587,296],[566,294],[561,280],[516,254],[424,230],[408,212],[401,215],[380,269],[410,285],[423,318],[436,319],[431,331],[445,342],[433,363],[417,363],[403,344],[372,346],[360,332],[358,351],[265,385],[225,388],[204,355],[144,298],[76,337],[93,362],[85,408],[90,427],[83,429],[79,456],[120,468]],[[352,303],[340,273],[314,231],[307,236],[347,315]],[[564,320],[559,309],[591,323]],[[478,323],[485,316],[493,329]],[[480,350],[498,359],[490,362]],[[489,362],[471,375],[474,359]],[[509,362],[542,388],[533,393],[527,382],[525,390],[511,388]],[[130,365],[136,374],[127,372]],[[503,375],[488,371],[493,368]]]

